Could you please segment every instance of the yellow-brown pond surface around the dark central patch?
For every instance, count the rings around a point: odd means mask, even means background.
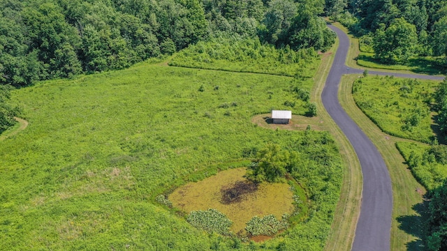
[[[217,209],[233,221],[230,229],[235,234],[243,234],[247,222],[256,215],[263,217],[272,214],[277,219],[281,219],[284,213],[289,215],[293,213],[295,210],[292,203],[293,192],[287,183],[261,183],[256,192],[247,194],[242,201],[223,204],[221,190],[238,181],[246,181],[243,177],[245,172],[245,168],[228,169],[203,181],[188,183],[174,190],[169,200],[173,201],[175,207],[181,208],[186,213],[205,211],[208,208]],[[305,198],[304,190],[300,191],[302,197]],[[307,201],[307,199],[302,200]]]

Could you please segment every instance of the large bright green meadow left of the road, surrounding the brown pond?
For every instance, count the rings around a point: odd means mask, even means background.
[[[0,250],[232,247],[152,198],[183,177],[242,160],[250,149],[302,137],[251,123],[256,114],[291,109],[283,104],[295,98],[295,84],[293,77],[140,63],[14,91],[29,126],[0,144]],[[292,110],[307,109],[298,100]],[[328,133],[312,135],[335,149]],[[330,175],[341,177],[341,160],[335,162]],[[340,185],[328,183],[311,198],[326,202],[314,205],[304,225],[256,245],[322,249]]]

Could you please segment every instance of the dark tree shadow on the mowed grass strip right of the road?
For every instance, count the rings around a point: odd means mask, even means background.
[[[409,251],[420,251],[426,250],[425,248],[425,236],[427,229],[427,210],[428,201],[413,205],[413,210],[416,211],[414,215],[402,215],[397,217],[397,222],[399,222],[399,229],[402,229],[406,234],[411,234],[417,239],[406,243],[406,250]]]

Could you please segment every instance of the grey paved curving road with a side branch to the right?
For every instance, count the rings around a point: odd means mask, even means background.
[[[352,250],[384,251],[390,250],[391,213],[393,211],[393,188],[390,175],[383,158],[376,146],[357,124],[344,112],[338,102],[339,82],[344,74],[361,74],[363,70],[345,66],[350,41],[346,33],[335,26],[328,25],[337,33],[339,47],[334,62],[330,68],[321,100],[335,123],[341,128],[351,142],[363,175],[362,206],[358,219],[356,236]],[[369,71],[374,75],[394,75],[395,77],[409,77],[420,79],[444,79],[444,77],[430,75],[410,75],[402,73],[383,73]]]

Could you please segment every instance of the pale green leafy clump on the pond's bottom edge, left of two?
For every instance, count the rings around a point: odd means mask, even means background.
[[[210,208],[207,211],[191,211],[186,220],[199,229],[207,231],[207,233],[217,233],[221,235],[230,235],[230,226],[233,224],[226,215]]]

